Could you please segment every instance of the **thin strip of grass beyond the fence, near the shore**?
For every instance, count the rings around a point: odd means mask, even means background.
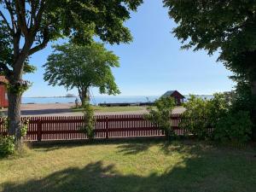
[[[146,107],[141,106],[127,106],[127,107],[101,107],[93,106],[95,112],[125,112],[125,111],[140,111],[145,110]],[[73,112],[82,112],[83,108],[72,108]]]

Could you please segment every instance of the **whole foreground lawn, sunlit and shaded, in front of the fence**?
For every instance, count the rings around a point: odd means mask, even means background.
[[[0,160],[0,191],[255,191],[255,154],[191,141],[44,144]]]

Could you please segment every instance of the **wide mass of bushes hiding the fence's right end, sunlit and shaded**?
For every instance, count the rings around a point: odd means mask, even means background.
[[[238,100],[238,101],[237,101]],[[235,93],[231,102],[225,94],[214,94],[211,100],[191,96],[184,103],[186,111],[180,125],[200,139],[212,138],[220,142],[244,143],[252,132],[250,113],[238,110],[241,97]],[[246,109],[246,108],[245,108]],[[210,134],[209,129],[212,129]]]

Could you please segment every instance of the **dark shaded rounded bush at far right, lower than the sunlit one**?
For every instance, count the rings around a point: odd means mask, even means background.
[[[252,126],[253,123],[247,111],[228,113],[223,118],[218,119],[213,130],[214,139],[223,143],[245,143],[250,138]]]

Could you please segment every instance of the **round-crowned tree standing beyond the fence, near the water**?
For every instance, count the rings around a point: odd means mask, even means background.
[[[77,88],[84,104],[89,100],[89,88],[98,87],[101,93],[119,94],[111,67],[119,67],[119,57],[103,44],[55,45],[55,53],[44,64],[44,80],[51,85],[63,85],[67,90]]]

